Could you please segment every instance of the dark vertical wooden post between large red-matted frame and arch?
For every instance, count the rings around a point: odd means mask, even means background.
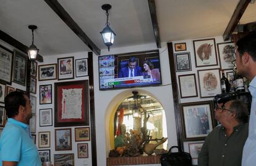
[[[96,150],[96,126],[95,126],[95,101],[94,101],[94,82],[93,82],[93,53],[88,52],[88,76],[90,94],[90,127],[91,127],[91,146],[92,146],[92,165],[97,165]]]

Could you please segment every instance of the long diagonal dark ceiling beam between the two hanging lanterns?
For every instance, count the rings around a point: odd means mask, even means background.
[[[67,13],[67,11],[59,4],[57,0],[45,0],[51,9],[54,10],[56,14],[66,23],[69,28],[74,31],[74,33],[94,52],[96,55],[100,55],[100,49],[93,43],[93,41],[85,34],[85,32],[80,28],[72,17]]]

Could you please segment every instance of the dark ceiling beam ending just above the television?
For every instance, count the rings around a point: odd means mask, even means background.
[[[155,34],[156,46],[158,47],[158,49],[160,49],[161,48],[161,40],[160,40],[158,22],[157,22],[157,17],[156,17],[155,0],[148,0],[148,6],[150,9],[150,17],[151,17],[151,22],[153,25],[153,31]]]

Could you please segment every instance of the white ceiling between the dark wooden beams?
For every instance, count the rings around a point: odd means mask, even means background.
[[[222,36],[239,0],[155,0],[161,42]],[[155,42],[147,0],[59,0],[73,20],[100,48],[105,27],[103,4],[111,4],[109,22],[117,34],[112,47]],[[241,23],[254,22],[256,3],[249,4]],[[0,30],[29,46],[28,25],[35,30],[40,54],[82,52],[90,49],[43,0],[1,0]]]

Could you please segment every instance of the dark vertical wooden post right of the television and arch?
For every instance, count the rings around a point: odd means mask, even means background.
[[[176,79],[176,70],[174,64],[174,55],[173,55],[173,43],[168,42],[168,55],[169,55],[169,66],[171,71],[171,86],[173,89],[173,106],[174,106],[174,113],[176,119],[176,133],[177,133],[177,146],[184,149],[183,146],[183,139],[182,139],[182,124],[181,124],[181,111],[179,111],[179,92],[177,86],[177,79]]]

